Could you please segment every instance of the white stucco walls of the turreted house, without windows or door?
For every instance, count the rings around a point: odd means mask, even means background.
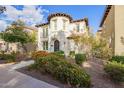
[[[56,20],[56,26],[54,27],[54,20]],[[66,20],[65,29],[63,29],[63,20]],[[48,41],[48,51],[54,52],[54,41],[58,40],[60,43],[60,50],[65,51],[68,55],[70,51],[75,51],[75,44],[73,40],[68,40],[67,37],[71,35],[71,31],[76,30],[76,26],[79,24],[79,32],[86,31],[86,22],[70,22],[69,18],[63,16],[56,16],[50,19],[49,24],[38,28],[38,50],[43,50],[43,41]],[[43,29],[48,28],[48,37],[43,38]]]

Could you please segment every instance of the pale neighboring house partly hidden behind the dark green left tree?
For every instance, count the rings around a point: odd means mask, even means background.
[[[24,27],[24,30],[29,32],[29,34],[33,34],[35,32],[34,34],[37,36],[36,28],[26,26]],[[36,42],[37,42],[37,38],[36,38]],[[27,51],[30,52],[36,50],[37,45],[36,43],[27,43],[25,44],[25,47],[27,47]],[[0,51],[11,53],[11,52],[23,52],[24,50],[19,43],[7,43],[3,40],[0,40]]]

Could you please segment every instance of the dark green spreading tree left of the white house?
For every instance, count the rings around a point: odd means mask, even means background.
[[[1,33],[1,38],[8,43],[19,43],[27,53],[25,44],[35,42],[35,36],[31,36],[28,31],[25,30],[25,24],[23,21],[18,20],[11,24],[4,32]]]

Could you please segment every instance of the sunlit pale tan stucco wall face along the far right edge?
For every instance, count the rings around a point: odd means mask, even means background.
[[[122,36],[124,37],[124,5],[117,5],[115,6],[115,55],[124,54]]]

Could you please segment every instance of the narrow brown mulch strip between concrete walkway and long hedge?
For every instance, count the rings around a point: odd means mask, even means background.
[[[23,68],[17,69],[17,71],[19,71],[21,73],[24,73],[26,75],[29,75],[33,78],[38,79],[38,80],[42,80],[44,82],[47,82],[51,85],[60,87],[60,88],[69,88],[69,85],[59,82],[58,80],[53,78],[51,75],[42,74],[42,73],[40,73],[39,71],[36,71],[36,70],[28,70],[28,67],[23,67]]]

